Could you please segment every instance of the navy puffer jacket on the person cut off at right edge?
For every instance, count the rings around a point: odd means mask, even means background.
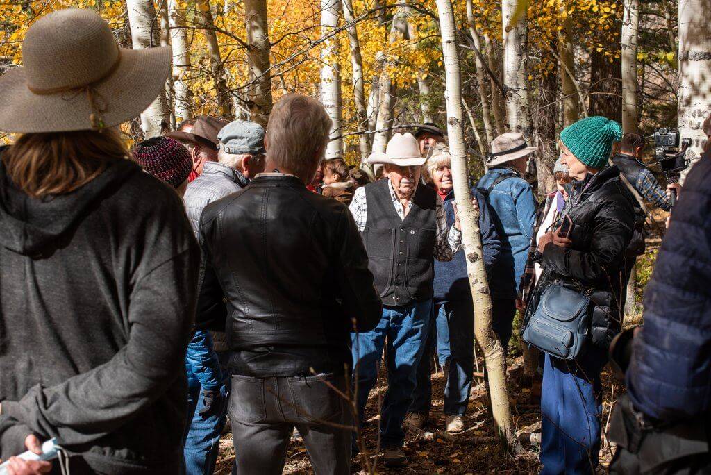
[[[634,406],[661,420],[711,412],[711,157],[690,171],[644,292],[626,374]]]

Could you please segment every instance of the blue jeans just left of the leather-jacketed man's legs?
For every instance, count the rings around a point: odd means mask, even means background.
[[[220,449],[220,435],[225,428],[227,421],[227,407],[230,396],[229,372],[226,370],[228,363],[228,351],[218,351],[220,366],[223,375],[228,378],[220,386],[220,393],[223,400],[213,414],[203,417],[199,412],[205,407],[201,395],[202,387],[198,385],[188,388],[188,420],[190,427],[186,429],[185,447],[183,449],[183,459],[185,461],[185,473],[187,475],[212,474],[215,471],[215,462],[218,459]]]

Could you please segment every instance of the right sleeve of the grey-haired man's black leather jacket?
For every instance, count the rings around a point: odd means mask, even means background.
[[[356,331],[370,331],[383,316],[383,302],[368,270],[368,254],[353,215],[343,207],[336,232],[335,265],[343,311]]]

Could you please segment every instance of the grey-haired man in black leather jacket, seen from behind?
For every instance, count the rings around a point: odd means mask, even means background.
[[[201,217],[197,322],[227,332],[240,474],[281,473],[294,427],[316,473],[349,473],[350,332],[373,329],[382,304],[348,208],[306,189],[330,127],[320,102],[282,97],[264,141],[269,173]]]

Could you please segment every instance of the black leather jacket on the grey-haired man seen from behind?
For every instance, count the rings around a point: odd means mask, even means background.
[[[299,178],[258,176],[211,203],[199,237],[206,265],[196,321],[227,331],[234,374],[343,374],[350,332],[380,321],[350,211]]]

